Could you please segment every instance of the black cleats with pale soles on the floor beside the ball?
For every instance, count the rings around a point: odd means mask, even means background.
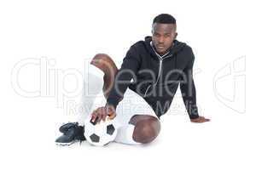
[[[55,144],[70,145],[86,140],[84,137],[84,127],[79,126],[78,122],[68,122],[62,125],[60,132],[63,134],[55,140]]]

